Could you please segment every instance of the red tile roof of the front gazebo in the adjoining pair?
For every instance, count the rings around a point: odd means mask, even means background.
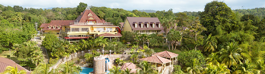
[[[142,61],[147,61],[147,62],[153,62],[153,63],[168,63],[171,62],[171,60],[160,57],[160,56],[151,56],[151,57],[146,57],[146,58],[142,58],[139,59]]]

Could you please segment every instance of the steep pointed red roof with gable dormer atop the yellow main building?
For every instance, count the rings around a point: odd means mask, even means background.
[[[91,14],[92,16],[88,16],[88,14]],[[74,22],[87,22],[87,19],[89,18],[93,18],[95,19],[97,22],[99,23],[103,23],[106,22],[103,19],[100,19],[99,17],[97,17],[97,15],[91,11],[90,9],[86,9],[85,11],[83,11],[83,13],[81,13],[75,20]]]

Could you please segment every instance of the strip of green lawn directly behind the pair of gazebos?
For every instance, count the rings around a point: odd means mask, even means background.
[[[154,52],[162,52],[162,51],[169,51],[178,54],[178,57],[181,57],[184,52],[186,51],[180,51],[176,48],[176,50],[168,50],[168,49],[162,49],[162,48],[153,48]]]

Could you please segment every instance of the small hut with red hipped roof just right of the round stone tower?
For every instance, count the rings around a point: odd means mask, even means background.
[[[134,63],[131,62],[125,63],[121,66],[121,70],[126,70],[126,68],[131,69],[130,73],[136,73],[136,70],[140,69]]]

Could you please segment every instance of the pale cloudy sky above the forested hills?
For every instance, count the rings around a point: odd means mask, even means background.
[[[213,0],[0,0],[4,6],[19,5],[23,8],[76,7],[80,2],[88,6],[122,8],[125,10],[169,10],[173,12],[204,11],[206,3]],[[253,9],[265,7],[265,0],[218,0],[231,9]]]

